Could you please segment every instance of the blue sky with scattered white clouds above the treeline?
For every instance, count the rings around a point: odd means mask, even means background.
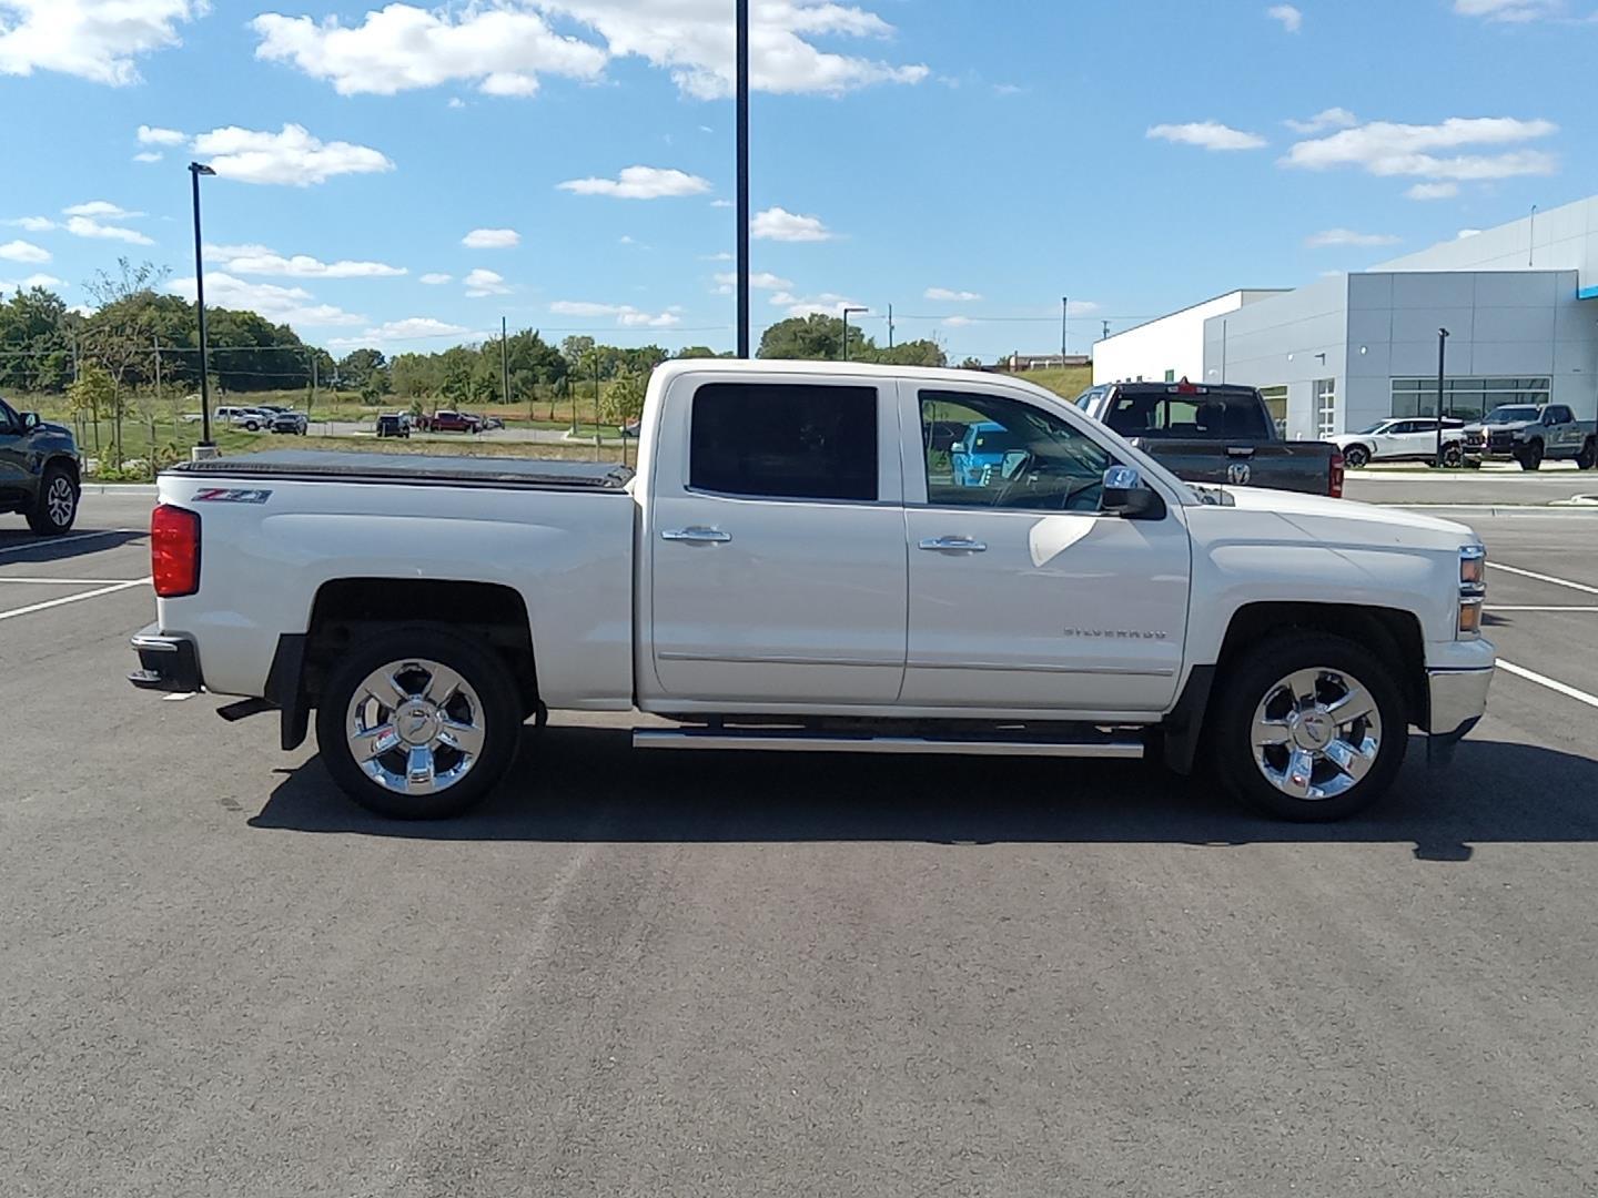
[[[756,335],[1087,350],[1592,195],[1595,2],[753,0]],[[192,294],[198,157],[208,299],[334,351],[729,348],[730,11],[0,0],[0,281]]]

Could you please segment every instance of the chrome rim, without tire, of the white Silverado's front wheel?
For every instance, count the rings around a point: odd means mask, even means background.
[[[1254,708],[1254,764],[1290,799],[1336,799],[1369,773],[1382,746],[1382,717],[1352,674],[1298,669]]]

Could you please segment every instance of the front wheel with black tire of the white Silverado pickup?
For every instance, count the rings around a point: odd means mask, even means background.
[[[1206,728],[1234,795],[1280,819],[1320,823],[1363,810],[1403,765],[1403,692],[1361,645],[1325,633],[1264,641],[1237,660]]]

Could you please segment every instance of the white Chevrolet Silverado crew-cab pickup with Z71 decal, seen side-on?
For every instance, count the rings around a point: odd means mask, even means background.
[[[957,474],[962,428],[1002,462]],[[550,709],[642,711],[654,749],[1202,764],[1331,819],[1481,717],[1483,549],[1429,516],[1194,489],[1029,383],[686,361],[636,474],[268,452],[160,478],[153,690],[312,712],[390,816],[465,810]]]

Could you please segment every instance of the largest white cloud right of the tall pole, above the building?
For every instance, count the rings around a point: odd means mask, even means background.
[[[1513,117],[1449,117],[1440,125],[1369,121],[1352,129],[1296,142],[1283,166],[1326,171],[1355,166],[1374,176],[1422,176],[1427,179],[1509,179],[1553,174],[1558,158],[1545,150],[1505,153],[1454,153],[1477,145],[1513,145],[1558,131],[1553,121]]]

